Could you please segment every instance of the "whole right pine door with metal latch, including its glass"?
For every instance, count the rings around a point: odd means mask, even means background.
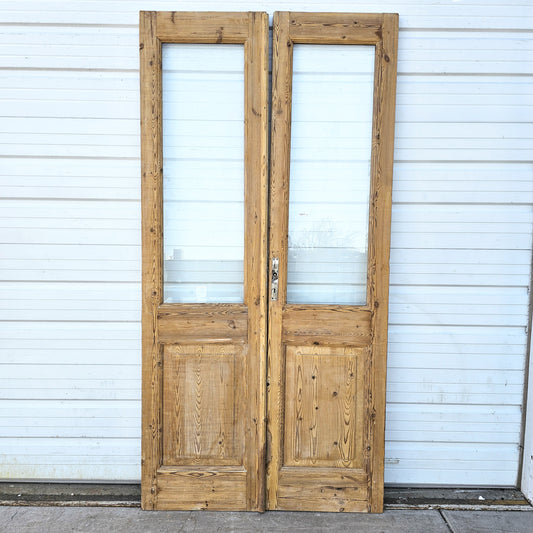
[[[383,509],[397,28],[274,17],[269,509]]]

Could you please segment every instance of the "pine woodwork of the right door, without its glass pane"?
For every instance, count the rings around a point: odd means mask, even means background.
[[[397,33],[390,14],[274,16],[270,257],[279,259],[279,287],[269,308],[270,509],[383,510]],[[357,307],[286,304],[292,47],[300,43],[375,45],[367,297]],[[347,490],[324,497],[339,478]],[[300,491],[304,479],[317,484]]]

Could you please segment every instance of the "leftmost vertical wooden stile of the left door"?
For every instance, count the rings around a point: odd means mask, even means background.
[[[157,469],[162,456],[163,347],[158,308],[163,301],[163,194],[161,41],[157,13],[140,14],[142,175],[142,507],[157,504]]]

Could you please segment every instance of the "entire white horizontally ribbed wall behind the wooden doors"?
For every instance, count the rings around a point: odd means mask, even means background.
[[[0,1],[0,477],[140,478],[140,9],[400,14],[386,481],[515,485],[527,0]]]

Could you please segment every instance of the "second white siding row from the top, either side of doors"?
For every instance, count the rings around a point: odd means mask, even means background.
[[[139,66],[136,27],[96,31],[82,26],[73,31],[52,26],[33,33],[29,40],[26,32],[23,25],[3,32],[0,52],[4,68],[134,71]],[[490,31],[481,31],[472,41],[464,32],[409,31],[399,47],[398,72],[527,73],[533,68],[528,35],[509,32],[495,40]]]

